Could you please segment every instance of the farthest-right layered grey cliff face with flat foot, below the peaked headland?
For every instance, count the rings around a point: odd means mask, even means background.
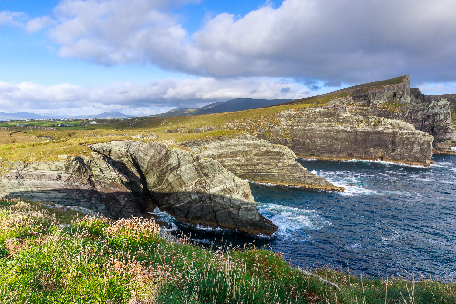
[[[233,120],[221,126],[167,131],[212,129],[248,131],[271,144],[288,146],[298,157],[430,165],[432,156],[433,137],[428,133],[399,120],[351,115],[343,104],[291,108],[272,115]]]

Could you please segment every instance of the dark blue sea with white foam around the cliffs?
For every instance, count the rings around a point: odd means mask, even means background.
[[[385,162],[300,160],[346,192],[250,183],[259,211],[279,230],[253,237],[174,223],[203,244],[255,241],[304,267],[349,268],[375,276],[456,277],[456,155],[428,168]],[[175,222],[165,212],[160,216]]]

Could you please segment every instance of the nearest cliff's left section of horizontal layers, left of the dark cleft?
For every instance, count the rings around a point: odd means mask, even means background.
[[[112,217],[139,214],[144,201],[125,187],[127,177],[109,159],[98,153],[59,158],[31,163],[3,160],[0,196],[82,206]]]

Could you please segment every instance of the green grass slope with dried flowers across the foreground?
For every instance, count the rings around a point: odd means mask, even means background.
[[[215,250],[167,239],[150,220],[60,216],[0,201],[0,303],[454,303],[452,281],[305,273],[253,244]]]

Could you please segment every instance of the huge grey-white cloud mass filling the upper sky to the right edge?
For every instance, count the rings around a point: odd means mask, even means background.
[[[223,13],[190,35],[166,1],[66,0],[51,36],[64,57],[151,62],[211,77],[295,77],[330,85],[411,74],[456,77],[454,0],[285,0]],[[438,71],[438,72],[437,72]]]

